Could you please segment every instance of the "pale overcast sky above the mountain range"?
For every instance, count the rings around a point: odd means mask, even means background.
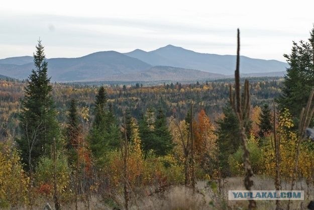
[[[201,53],[284,61],[292,41],[307,40],[313,0],[0,1],[0,59],[32,55],[40,38],[47,58],[96,51],[154,50],[168,44]]]

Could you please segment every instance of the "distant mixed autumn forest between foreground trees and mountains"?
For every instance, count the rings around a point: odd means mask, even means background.
[[[273,98],[280,95],[282,78],[257,77],[250,78],[252,106],[261,107],[264,103],[271,103]],[[207,81],[203,83],[167,83],[156,86],[143,86],[142,84],[105,85],[108,102],[112,104],[115,115],[122,122],[123,111],[129,110],[132,116],[140,119],[147,108],[162,108],[166,117],[176,116],[183,119],[189,109],[190,101],[194,102],[195,110],[204,110],[212,120],[223,112],[229,100],[229,84],[232,79]],[[20,81],[0,80],[1,101],[1,133],[6,131],[17,132],[17,115],[20,109],[20,100],[24,98],[24,87],[27,83]],[[58,84],[53,83],[52,97],[56,110],[59,112],[58,120],[66,123],[71,98],[77,101],[79,111],[87,111],[89,118],[93,119],[91,112],[94,108],[94,98],[99,85]],[[92,121],[90,119],[90,121]],[[9,132],[9,133],[10,133]]]

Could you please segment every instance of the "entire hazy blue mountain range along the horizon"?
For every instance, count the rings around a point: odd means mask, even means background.
[[[197,53],[167,45],[154,51],[96,52],[79,58],[51,58],[52,81],[185,81],[233,75],[236,56]],[[241,56],[248,76],[282,76],[287,63]],[[0,59],[0,74],[25,79],[34,68],[32,56]]]

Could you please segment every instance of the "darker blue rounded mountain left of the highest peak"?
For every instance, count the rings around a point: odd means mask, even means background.
[[[51,58],[48,74],[52,81],[95,80],[122,73],[149,69],[151,65],[115,51],[96,52],[79,58]],[[33,63],[0,64],[0,73],[19,79],[27,78]]]

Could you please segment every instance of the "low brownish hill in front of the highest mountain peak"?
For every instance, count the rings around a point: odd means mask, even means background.
[[[223,74],[171,66],[154,66],[146,71],[108,77],[110,81],[194,81],[225,78]]]

